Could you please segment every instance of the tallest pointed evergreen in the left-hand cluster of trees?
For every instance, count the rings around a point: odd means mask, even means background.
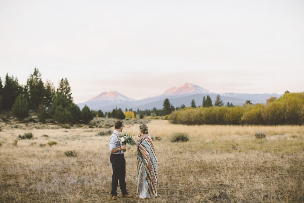
[[[34,69],[34,73],[27,79],[26,86],[29,92],[29,108],[38,110],[39,104],[43,102],[44,86],[41,79],[41,73],[38,68]]]

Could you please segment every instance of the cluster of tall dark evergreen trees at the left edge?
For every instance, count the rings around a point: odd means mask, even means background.
[[[88,123],[93,119],[89,107],[80,108],[73,102],[71,87],[67,79],[61,79],[58,88],[47,80],[43,83],[38,68],[34,69],[25,85],[17,78],[6,74],[4,86],[0,77],[0,111],[12,111],[22,120],[33,111],[40,121],[51,118],[59,123]]]

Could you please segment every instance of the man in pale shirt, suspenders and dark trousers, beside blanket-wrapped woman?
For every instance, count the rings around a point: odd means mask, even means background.
[[[117,121],[114,126],[114,131],[109,140],[109,149],[111,152],[110,161],[112,164],[112,200],[117,198],[117,186],[119,180],[119,187],[123,194],[123,197],[131,198],[131,195],[128,195],[126,190],[126,162],[125,156],[123,155],[123,150],[127,149],[126,145],[123,145],[123,142],[119,141],[119,135],[123,131],[123,123]]]

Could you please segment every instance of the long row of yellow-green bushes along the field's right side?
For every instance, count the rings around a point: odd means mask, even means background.
[[[223,105],[210,107],[187,107],[170,115],[174,124],[254,124],[298,125],[304,123],[304,93],[285,92],[280,98],[271,97],[266,105],[253,105],[247,100],[243,106]]]

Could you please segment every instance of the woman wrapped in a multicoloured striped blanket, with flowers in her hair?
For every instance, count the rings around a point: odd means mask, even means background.
[[[157,159],[148,126],[141,124],[137,135],[137,196],[157,197]]]

